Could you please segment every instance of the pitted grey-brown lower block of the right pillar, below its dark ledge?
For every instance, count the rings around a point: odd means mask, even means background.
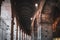
[[[41,40],[52,40],[52,25],[51,24],[42,24]]]

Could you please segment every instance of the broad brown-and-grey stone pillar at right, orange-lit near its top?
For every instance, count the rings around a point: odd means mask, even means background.
[[[46,4],[42,13],[41,20],[41,40],[53,40],[51,11],[51,6]]]

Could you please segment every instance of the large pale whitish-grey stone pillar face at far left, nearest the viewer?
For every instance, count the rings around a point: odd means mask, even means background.
[[[4,22],[3,22],[3,21]],[[6,24],[6,25],[5,25]],[[1,4],[1,27],[2,27],[2,37],[1,40],[10,40],[11,38],[11,4],[10,0],[5,0]],[[1,30],[1,29],[0,29]],[[6,37],[6,38],[4,38]]]

